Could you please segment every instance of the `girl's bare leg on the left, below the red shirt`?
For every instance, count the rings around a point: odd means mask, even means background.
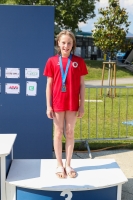
[[[55,112],[53,121],[54,121],[54,151],[57,159],[57,168],[61,169],[63,167],[62,163],[62,135],[63,135],[63,126],[64,126],[64,117],[65,112]],[[57,173],[59,178],[65,178],[66,174],[63,170],[59,170]]]

